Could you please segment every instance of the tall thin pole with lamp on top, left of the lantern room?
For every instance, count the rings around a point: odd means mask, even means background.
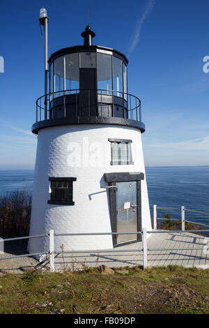
[[[47,93],[48,93],[48,22],[47,10],[40,8],[40,24],[45,26],[45,119],[47,119]]]

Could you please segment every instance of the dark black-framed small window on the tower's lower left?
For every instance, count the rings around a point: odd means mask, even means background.
[[[50,200],[48,204],[57,205],[74,205],[72,200],[72,184],[76,181],[76,178],[49,178],[50,181]]]

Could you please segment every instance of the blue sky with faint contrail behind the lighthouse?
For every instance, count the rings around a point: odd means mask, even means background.
[[[35,102],[44,94],[39,10],[49,15],[49,55],[80,45],[127,55],[128,91],[141,99],[146,166],[209,165],[208,0],[1,1],[0,169],[33,168]]]

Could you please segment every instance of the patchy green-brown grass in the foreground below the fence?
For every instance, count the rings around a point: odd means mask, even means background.
[[[0,313],[195,313],[209,308],[209,270],[139,267],[100,274],[26,272],[0,277]]]

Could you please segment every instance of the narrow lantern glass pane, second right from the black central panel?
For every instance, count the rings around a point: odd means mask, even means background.
[[[123,61],[117,57],[113,57],[113,84],[114,90],[118,92],[114,92],[114,96],[122,97],[123,94]]]

